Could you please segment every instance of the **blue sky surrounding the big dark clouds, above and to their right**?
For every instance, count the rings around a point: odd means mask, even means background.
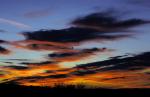
[[[0,32],[0,39],[23,40],[24,36],[19,33],[24,31],[67,28],[77,17],[107,9],[122,12],[123,18],[150,19],[150,9],[144,4],[132,3],[130,0],[0,0],[0,29],[6,31]],[[149,25],[136,27],[134,30],[139,31],[139,34],[128,39],[83,44],[79,48],[114,48],[117,50],[114,56],[148,51]]]

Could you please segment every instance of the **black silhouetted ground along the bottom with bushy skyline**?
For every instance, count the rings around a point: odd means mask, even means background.
[[[85,89],[83,85],[50,87],[26,87],[16,84],[0,84],[0,97],[149,97],[150,89]]]

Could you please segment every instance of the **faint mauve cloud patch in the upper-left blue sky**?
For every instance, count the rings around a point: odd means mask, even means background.
[[[30,11],[24,14],[26,18],[40,18],[40,17],[46,17],[50,14],[50,9],[41,9],[41,10],[35,10]]]

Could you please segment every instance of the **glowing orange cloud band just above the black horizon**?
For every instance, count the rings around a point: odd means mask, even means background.
[[[144,76],[141,79],[141,76]],[[150,88],[147,86],[149,76],[136,74],[134,72],[112,71],[96,73],[86,76],[73,76],[67,78],[42,78],[32,81],[31,79],[19,80],[18,82],[26,86],[55,86],[56,84],[86,84],[87,86],[103,88]],[[145,84],[145,85],[144,85]]]

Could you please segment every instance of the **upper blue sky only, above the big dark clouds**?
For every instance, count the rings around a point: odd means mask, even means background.
[[[69,26],[68,23],[78,16],[103,9],[113,8],[124,11],[127,13],[125,17],[148,18],[149,15],[148,7],[128,4],[126,0],[0,0],[0,2],[0,18],[31,26],[31,29],[19,29],[12,25],[0,23],[1,29],[7,29],[11,33],[25,30],[64,28]],[[44,11],[45,15],[42,16]],[[35,13],[38,16],[35,16],[35,18],[27,17],[26,14],[29,13]]]

